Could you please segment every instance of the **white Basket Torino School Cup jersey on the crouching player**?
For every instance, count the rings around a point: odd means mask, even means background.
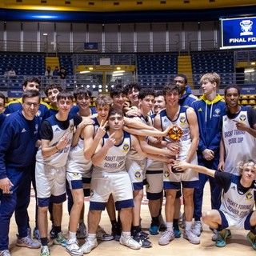
[[[241,194],[238,192],[239,182],[240,177],[232,175],[230,187],[223,194],[222,205],[220,207],[220,210],[232,216],[234,220],[244,218],[250,214],[250,211],[254,209],[255,205],[255,186],[250,187],[245,194]]]

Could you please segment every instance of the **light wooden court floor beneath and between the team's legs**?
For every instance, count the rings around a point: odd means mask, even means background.
[[[30,214],[30,226],[32,229],[34,228],[34,206],[35,200],[34,197],[31,198],[29,214]],[[86,212],[88,210],[89,203],[86,202]],[[210,209],[210,193],[209,186],[206,184],[205,195],[204,195],[204,203],[203,210]],[[67,234],[68,227],[68,214],[66,210],[66,203],[63,206],[63,219],[62,219],[62,230],[64,234]],[[101,226],[110,233],[110,221],[106,214],[106,212],[102,213],[102,221]],[[142,228],[145,231],[148,231],[150,226],[150,214],[148,211],[148,207],[146,205],[146,199],[142,203]],[[1,230],[0,230],[1,232]],[[183,230],[182,230],[183,232]],[[12,256],[34,256],[40,255],[40,249],[28,249],[15,246],[16,242],[16,233],[17,226],[14,221],[14,218],[11,219],[10,223],[10,254]],[[214,246],[214,242],[211,241],[211,237],[213,233],[209,230],[208,226],[203,225],[203,232],[201,235],[201,243],[199,245],[192,245],[190,242],[185,240],[184,238],[174,239],[174,241],[170,242],[167,246],[159,246],[158,238],[161,234],[156,236],[150,236],[150,241],[153,243],[151,248],[141,248],[140,250],[131,250],[126,246],[120,245],[116,241],[108,241],[108,242],[98,242],[98,247],[95,248],[90,255],[92,256],[148,256],[150,255],[162,255],[162,256],[170,256],[170,255],[182,255],[182,256],[215,256],[215,255],[232,255],[232,256],[241,256],[241,255],[255,255],[256,251],[252,249],[250,246],[250,242],[246,241],[247,231],[232,231],[232,238],[227,239],[227,244],[223,248],[218,248]],[[79,240],[80,245],[83,244],[83,240]],[[62,246],[50,246],[50,254],[51,256],[62,256],[69,255],[66,253],[65,248]]]

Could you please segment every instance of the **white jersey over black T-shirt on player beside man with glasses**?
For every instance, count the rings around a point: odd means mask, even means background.
[[[55,168],[59,168],[66,165],[66,160],[68,154],[70,153],[70,146],[74,134],[74,118],[69,115],[70,125],[66,130],[62,130],[62,128],[58,126],[58,123],[55,121],[53,116],[47,118],[47,121],[50,123],[51,129],[53,131],[53,138],[50,141],[49,146],[57,145],[58,141],[64,136],[64,134],[67,134],[69,142],[64,149],[58,150],[56,153],[46,158],[42,156],[42,146],[40,146],[36,155],[36,160],[43,164],[48,164],[50,166],[54,166]]]

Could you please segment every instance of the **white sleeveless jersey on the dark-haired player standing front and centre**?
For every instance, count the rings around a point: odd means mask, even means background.
[[[109,138],[108,134],[103,137],[103,144]],[[126,171],[126,154],[129,152],[131,146],[130,134],[123,131],[123,139],[120,145],[112,146],[108,150],[104,160],[98,165],[94,166],[94,171],[106,171],[108,173],[117,173]]]

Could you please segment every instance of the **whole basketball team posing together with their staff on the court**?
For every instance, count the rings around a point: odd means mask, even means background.
[[[50,242],[72,256],[89,254],[98,240],[139,250],[151,247],[150,235],[159,233],[160,246],[181,237],[199,244],[202,223],[212,230],[215,246],[226,246],[232,230],[248,230],[246,238],[256,250],[256,111],[239,105],[238,86],[218,94],[218,74],[204,74],[200,82],[200,98],[184,74],[161,91],[117,84],[110,96],[99,95],[94,107],[86,87],[70,92],[54,83],[46,86],[49,103],[44,102],[37,77],[26,78],[22,98],[6,108],[0,94],[0,256],[11,255],[13,214],[16,246],[41,248],[41,256],[50,255]],[[206,182],[211,209],[202,213]],[[27,210],[31,183],[34,229]],[[144,191],[149,233],[141,226]],[[89,212],[85,197],[90,197]],[[100,226],[102,210],[111,234]]]

